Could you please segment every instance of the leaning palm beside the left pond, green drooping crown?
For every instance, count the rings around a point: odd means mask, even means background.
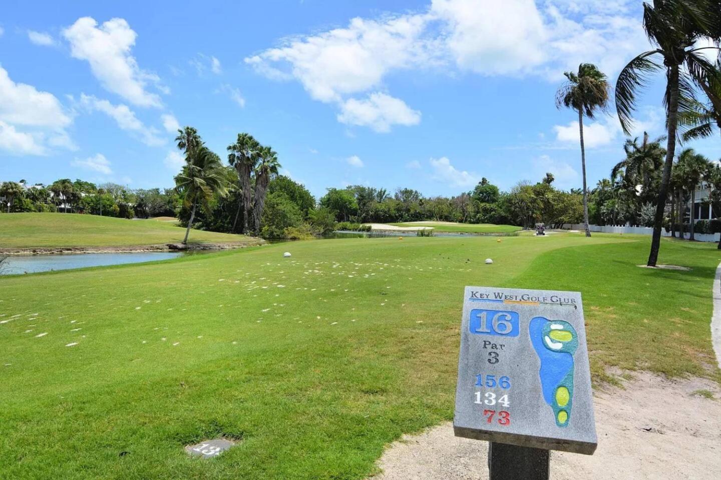
[[[208,202],[213,195],[226,196],[228,194],[218,155],[201,146],[192,150],[188,159],[187,165],[175,177],[175,189],[183,195],[183,205],[191,208],[183,244],[187,244],[187,236],[190,233],[190,227],[193,226],[195,209],[198,204],[200,203],[206,210],[209,210]]]

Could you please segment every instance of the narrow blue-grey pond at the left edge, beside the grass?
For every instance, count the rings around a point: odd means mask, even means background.
[[[36,273],[68,268],[120,265],[168,260],[184,255],[182,252],[130,252],[130,253],[63,253],[59,255],[10,255],[8,266],[0,273]]]

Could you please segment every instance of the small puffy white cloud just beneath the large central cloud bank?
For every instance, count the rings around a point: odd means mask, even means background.
[[[348,99],[340,106],[338,122],[371,127],[376,132],[390,132],[391,126],[416,125],[420,112],[408,107],[401,99],[381,92],[368,95],[367,99]]]

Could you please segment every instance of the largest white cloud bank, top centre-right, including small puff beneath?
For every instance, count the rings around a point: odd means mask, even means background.
[[[632,6],[637,9],[633,0],[433,0],[417,13],[356,17],[347,27],[289,37],[245,63],[273,80],[296,79],[311,98],[336,104],[340,122],[387,132],[420,122],[420,112],[379,93],[397,71],[557,81],[563,71],[593,62],[611,76],[648,45],[637,12],[628,16]],[[406,112],[375,106],[379,113],[371,114],[371,97],[379,94]],[[359,109],[365,113],[356,114]]]

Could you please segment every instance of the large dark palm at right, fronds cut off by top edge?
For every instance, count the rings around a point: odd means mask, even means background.
[[[624,132],[630,135],[637,89],[647,85],[650,73],[665,70],[664,104],[668,145],[647,262],[648,266],[656,266],[663,212],[671,180],[673,155],[676,152],[678,112],[692,109],[694,84],[703,89],[704,84],[709,83],[709,78],[716,75],[713,65],[702,55],[701,50],[704,48],[696,48],[694,45],[704,37],[716,42],[721,40],[721,0],[654,0],[653,6],[644,3],[643,9],[643,27],[656,48],[638,55],[619,74],[616,81],[616,112]],[[663,58],[663,65],[653,60],[653,57],[658,56]],[[682,65],[684,68],[681,68]],[[712,92],[704,93],[708,95]]]

